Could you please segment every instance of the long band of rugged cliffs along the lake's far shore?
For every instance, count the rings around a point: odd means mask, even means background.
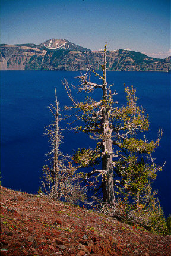
[[[115,71],[170,71],[170,57],[151,58],[140,52],[107,51],[107,68]],[[103,51],[48,49],[40,45],[1,45],[1,70],[100,70]]]

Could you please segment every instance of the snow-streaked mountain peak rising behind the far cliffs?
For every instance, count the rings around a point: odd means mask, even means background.
[[[69,49],[70,51],[91,51],[90,49],[75,45],[75,43],[71,43],[68,40],[55,38],[49,39],[45,43],[40,43],[40,46],[45,46],[50,50]]]

